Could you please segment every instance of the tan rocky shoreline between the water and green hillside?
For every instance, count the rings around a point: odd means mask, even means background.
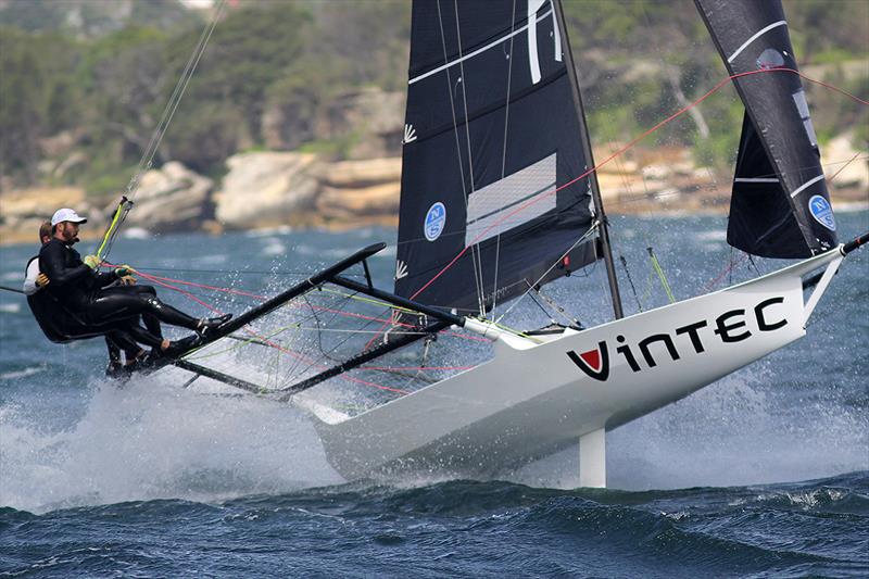
[[[828,160],[861,156],[847,165],[826,163],[834,204],[869,202],[865,155],[844,137],[829,143],[826,152]],[[127,227],[219,234],[286,225],[345,229],[398,223],[400,158],[333,162],[314,153],[261,151],[236,154],[227,167],[221,182],[178,162],[147,172]],[[681,148],[606,164],[599,169],[599,181],[610,214],[723,213],[729,206],[729,178],[697,166],[690,151]],[[61,206],[87,215],[91,225],[87,235],[99,236],[118,199],[93,199],[75,187],[4,192],[0,194],[0,244],[35,241],[39,224]]]

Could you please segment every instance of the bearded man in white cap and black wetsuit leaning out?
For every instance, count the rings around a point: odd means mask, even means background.
[[[109,284],[130,273],[118,267],[112,273],[98,273],[99,261],[88,255],[81,261],[72,244],[78,237],[78,226],[87,219],[71,209],[61,209],[51,218],[53,238],[39,252],[39,269],[51,280],[46,290],[71,314],[86,325],[100,327],[151,314],[160,322],[181,326],[197,333],[176,342],[163,340],[155,353],[174,356],[194,348],[202,337],[227,322],[231,315],[197,319],[161,302],[155,294],[131,290],[134,286],[106,288]]]

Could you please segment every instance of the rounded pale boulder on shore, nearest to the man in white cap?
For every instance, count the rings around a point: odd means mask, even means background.
[[[127,225],[151,231],[178,231],[199,228],[211,218],[214,181],[177,161],[142,175]]]

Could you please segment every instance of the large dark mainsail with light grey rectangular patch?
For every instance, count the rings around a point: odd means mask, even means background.
[[[478,312],[597,259],[551,0],[414,2],[411,38],[395,293]]]

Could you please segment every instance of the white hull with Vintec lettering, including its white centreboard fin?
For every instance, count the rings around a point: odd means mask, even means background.
[[[803,337],[841,260],[831,251],[715,293],[582,332],[566,330],[542,344],[502,336],[491,361],[352,418],[303,395],[297,402],[318,417],[329,462],[348,479],[407,471],[489,478],[584,437],[581,455],[593,457],[599,471],[581,478],[603,486],[603,429]],[[827,275],[804,303],[801,276],[822,266]]]

